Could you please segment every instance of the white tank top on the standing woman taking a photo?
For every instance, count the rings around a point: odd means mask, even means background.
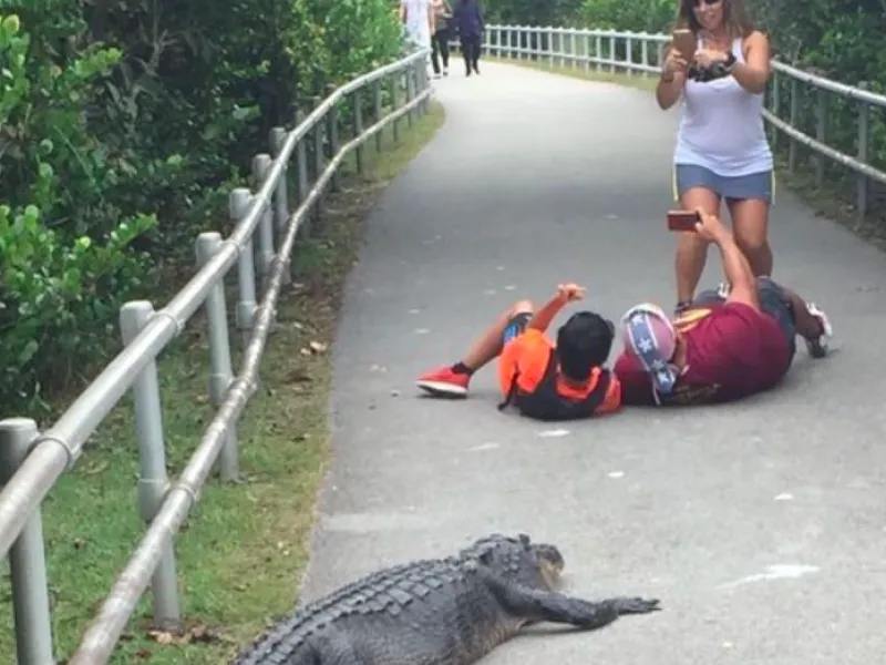
[[[741,38],[732,42],[732,53],[744,62]],[[673,163],[703,166],[725,177],[771,170],[762,110],[763,94],[748,92],[732,75],[687,81]]]

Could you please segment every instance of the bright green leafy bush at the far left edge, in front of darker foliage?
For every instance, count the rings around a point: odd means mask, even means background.
[[[81,235],[89,221],[79,215],[79,203],[103,206],[105,221],[116,213],[87,186],[90,180],[112,177],[113,170],[89,155],[81,100],[120,52],[93,49],[58,66],[30,59],[32,47],[17,16],[2,19],[0,174],[9,201],[0,205],[4,403],[39,399],[43,382],[69,378],[78,357],[101,354],[104,324],[146,273],[130,245],[154,225],[153,216],[117,215],[103,242]],[[85,177],[64,177],[72,171]],[[62,227],[66,233],[58,231]]]

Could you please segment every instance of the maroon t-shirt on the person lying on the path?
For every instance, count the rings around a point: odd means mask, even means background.
[[[772,317],[741,303],[693,307],[674,319],[683,334],[687,370],[662,405],[741,399],[775,386],[791,366],[791,347]],[[616,360],[625,405],[651,405],[652,385],[625,351]]]

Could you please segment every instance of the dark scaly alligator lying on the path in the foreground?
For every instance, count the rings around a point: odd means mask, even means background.
[[[657,598],[590,602],[557,591],[560,551],[519,533],[455,556],[387,567],[268,628],[231,665],[468,665],[538,622],[601,628]]]

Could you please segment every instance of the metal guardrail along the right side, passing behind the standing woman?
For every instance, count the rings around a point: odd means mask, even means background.
[[[584,30],[575,28],[552,28],[534,25],[487,25],[483,41],[484,52],[513,60],[545,60],[554,66],[583,66],[598,72],[622,72],[626,74],[657,74],[662,62],[668,34],[646,32],[618,32],[615,30]],[[886,109],[886,96],[876,94],[863,86],[852,86],[837,81],[805,72],[775,60],[770,83],[767,103],[763,117],[773,127],[772,144],[777,145],[779,132],[784,133],[789,143],[787,170],[796,167],[797,146],[808,147],[815,156],[815,181],[824,183],[824,160],[851,168],[856,173],[855,209],[864,218],[868,207],[870,181],[886,185],[886,172],[876,168],[870,157],[870,111],[872,108]],[[787,79],[790,90],[790,117],[779,117],[781,91]],[[815,136],[796,129],[800,111],[801,85],[816,91]],[[856,154],[849,155],[826,143],[827,98],[825,93],[839,95],[857,103],[858,123]]]

